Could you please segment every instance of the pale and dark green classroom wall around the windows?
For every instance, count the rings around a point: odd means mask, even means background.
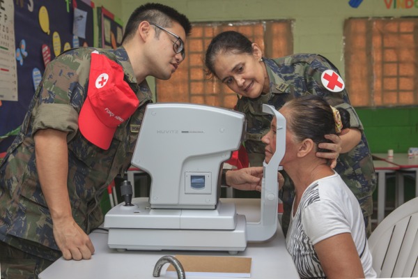
[[[109,0],[110,1],[110,0]],[[146,1],[121,0],[123,22]],[[417,0],[163,0],[192,22],[293,19],[293,50],[326,56],[344,77],[343,23],[349,17],[417,16]],[[360,1],[357,1],[360,2]],[[357,109],[372,152],[418,146],[418,107]]]

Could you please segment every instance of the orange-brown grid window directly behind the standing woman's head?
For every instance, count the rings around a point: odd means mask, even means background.
[[[291,20],[263,22],[195,23],[187,38],[186,59],[170,80],[156,80],[157,102],[197,103],[233,108],[237,95],[227,86],[206,76],[204,56],[218,33],[234,30],[258,43],[266,57],[293,53]]]

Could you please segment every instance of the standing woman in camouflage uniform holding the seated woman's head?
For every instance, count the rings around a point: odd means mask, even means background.
[[[271,115],[263,113],[263,104],[273,105],[279,110],[289,98],[318,95],[323,96],[334,107],[348,110],[351,127],[339,137],[325,135],[332,141],[321,143],[319,147],[332,152],[318,152],[316,156],[334,159],[332,167],[335,167],[336,172],[357,197],[367,232],[370,233],[376,173],[362,123],[350,105],[343,80],[334,65],[316,54],[265,58],[256,43],[251,43],[247,37],[235,31],[219,33],[212,39],[206,50],[205,63],[210,74],[215,75],[239,96],[236,110],[245,113],[247,120],[245,149],[251,167],[261,166],[264,160],[265,144],[261,142],[261,138],[269,130]],[[337,157],[338,160],[335,160]],[[238,181],[237,176],[240,174],[242,172],[226,172],[225,180],[227,183]],[[286,235],[294,190],[292,181],[285,172],[284,176],[286,182],[279,195],[284,202],[281,226]],[[229,185],[235,187],[233,182]]]

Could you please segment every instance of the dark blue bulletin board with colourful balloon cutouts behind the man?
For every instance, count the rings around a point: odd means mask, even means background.
[[[46,63],[72,47],[93,46],[94,8],[90,0],[3,1],[14,4],[17,98],[0,98],[0,153],[13,142]]]

